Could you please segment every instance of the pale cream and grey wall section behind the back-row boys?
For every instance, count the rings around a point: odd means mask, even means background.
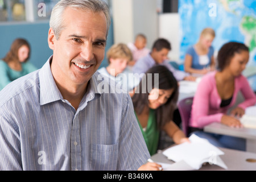
[[[134,42],[143,33],[151,48],[158,38],[156,5],[156,0],[112,0],[114,43]]]

